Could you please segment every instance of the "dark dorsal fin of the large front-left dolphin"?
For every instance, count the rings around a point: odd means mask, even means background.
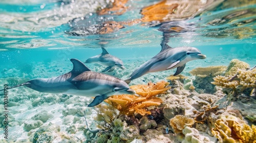
[[[74,74],[78,76],[84,71],[91,71],[86,65],[77,59],[70,59],[70,61],[73,63],[73,69],[71,70],[72,75]]]

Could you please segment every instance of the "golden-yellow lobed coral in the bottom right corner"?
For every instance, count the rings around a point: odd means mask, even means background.
[[[256,142],[256,126],[241,124],[235,116],[221,116],[215,126],[211,132],[220,142]]]

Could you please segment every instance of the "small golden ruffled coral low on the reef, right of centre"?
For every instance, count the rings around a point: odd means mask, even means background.
[[[195,120],[193,118],[184,116],[184,115],[176,115],[175,117],[170,119],[170,126],[174,129],[175,133],[182,133],[182,130],[185,126],[191,127],[194,125]]]

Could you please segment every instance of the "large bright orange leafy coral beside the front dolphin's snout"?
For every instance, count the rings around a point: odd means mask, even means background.
[[[168,82],[161,81],[156,84],[148,83],[147,85],[130,86],[130,88],[135,90],[136,93],[141,97],[136,95],[122,94],[112,96],[104,101],[119,110],[119,114],[129,116],[135,113],[141,115],[151,114],[150,111],[147,111],[146,107],[158,106],[163,102],[160,98],[155,96],[170,88],[165,87],[166,85],[168,85]]]

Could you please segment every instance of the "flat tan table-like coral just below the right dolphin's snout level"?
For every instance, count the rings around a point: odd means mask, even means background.
[[[208,66],[208,67],[197,67],[193,70],[189,71],[189,73],[193,76],[205,78],[205,77],[215,77],[217,75],[221,75],[223,71],[226,70],[226,66]]]

